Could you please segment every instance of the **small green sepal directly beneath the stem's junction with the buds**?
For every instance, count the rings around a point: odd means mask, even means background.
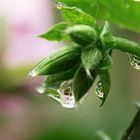
[[[111,56],[109,55],[109,53],[106,52],[103,59],[101,60],[101,62],[98,65],[98,69],[99,70],[108,70],[112,67],[112,64],[113,64],[113,60],[112,60]]]

